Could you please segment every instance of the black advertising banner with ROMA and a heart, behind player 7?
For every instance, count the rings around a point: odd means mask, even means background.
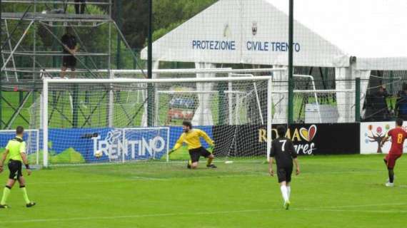
[[[276,127],[273,125],[273,139],[277,135]],[[290,126],[286,137],[293,140],[298,155],[356,154],[359,130],[357,123],[295,124]],[[219,150],[231,150],[229,154],[234,156],[266,156],[265,125],[214,126],[213,138],[215,154]]]

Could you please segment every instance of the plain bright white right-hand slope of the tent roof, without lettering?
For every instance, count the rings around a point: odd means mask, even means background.
[[[286,0],[266,0],[288,14]],[[294,16],[341,50],[358,57],[407,56],[407,1],[295,1]]]

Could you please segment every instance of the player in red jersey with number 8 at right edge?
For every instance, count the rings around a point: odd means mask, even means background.
[[[398,118],[396,120],[396,128],[393,128],[388,131],[387,135],[383,140],[381,140],[381,146],[384,142],[388,141],[388,138],[391,138],[391,148],[388,152],[388,155],[384,157],[384,162],[388,170],[388,182],[386,183],[387,187],[394,186],[394,166],[396,165],[396,160],[403,155],[403,144],[404,140],[407,138],[406,130],[403,129],[403,119]]]

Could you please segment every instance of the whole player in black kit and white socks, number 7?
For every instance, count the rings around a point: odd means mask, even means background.
[[[291,173],[293,172],[293,162],[296,164],[296,175],[300,174],[300,167],[298,165],[297,153],[293,142],[284,136],[286,135],[286,128],[278,126],[277,133],[278,138],[271,142],[268,171],[273,177],[273,162],[276,160],[278,183],[280,183],[281,194],[284,199],[283,207],[288,209],[288,207],[290,207],[290,182]]]

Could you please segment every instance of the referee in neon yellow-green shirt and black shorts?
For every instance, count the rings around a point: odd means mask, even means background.
[[[20,189],[23,192],[24,200],[26,202],[26,207],[33,207],[35,202],[31,202],[26,190],[26,180],[21,172],[21,167],[26,165],[27,174],[31,175],[31,170],[29,167],[29,161],[26,156],[26,142],[23,140],[24,128],[19,126],[16,129],[16,138],[9,140],[6,145],[6,150],[4,151],[3,157],[0,161],[0,172],[3,171],[4,161],[6,157],[9,156],[9,180],[7,181],[6,187],[4,187],[3,197],[1,198],[0,208],[8,208],[6,202],[7,197],[9,197],[11,188],[14,186],[16,181],[19,181]]]

